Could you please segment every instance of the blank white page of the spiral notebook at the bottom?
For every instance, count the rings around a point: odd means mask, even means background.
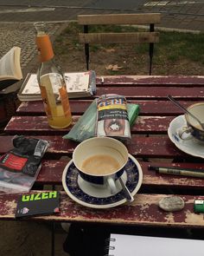
[[[111,234],[109,254],[114,256],[202,256],[203,240]]]

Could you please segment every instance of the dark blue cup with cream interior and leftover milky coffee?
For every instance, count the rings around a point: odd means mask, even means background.
[[[81,142],[73,151],[73,163],[80,176],[92,185],[111,188],[117,193],[115,181],[124,173],[128,150],[121,141],[110,137],[95,137]]]

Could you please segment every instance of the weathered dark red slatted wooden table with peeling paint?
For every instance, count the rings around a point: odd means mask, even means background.
[[[90,98],[71,99],[73,124],[78,121],[93,99],[99,95],[114,93],[124,95],[128,102],[139,104],[140,114],[131,128],[131,141],[127,148],[143,170],[143,183],[135,200],[109,209],[92,209],[81,206],[61,191],[61,212],[49,216],[32,217],[31,220],[67,221],[79,223],[116,224],[125,226],[204,227],[203,214],[194,213],[194,200],[204,200],[204,180],[176,175],[156,174],[148,166],[202,168],[204,154],[187,154],[169,139],[169,123],[182,110],[169,102],[167,95],[188,107],[204,101],[204,76],[137,76],[113,75],[97,77],[97,94]],[[0,154],[12,148],[14,135],[27,135],[50,142],[44,155],[41,172],[35,185],[61,185],[61,177],[67,160],[72,158],[75,141],[63,139],[71,127],[49,128],[42,102],[22,102],[16,115],[0,137]],[[32,193],[33,191],[31,191]],[[158,207],[163,197],[177,194],[185,207],[180,212],[168,213]],[[16,200],[19,194],[0,195],[0,220],[15,220]]]

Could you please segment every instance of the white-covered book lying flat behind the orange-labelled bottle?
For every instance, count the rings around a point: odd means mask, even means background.
[[[88,97],[96,91],[96,74],[93,70],[86,72],[65,73],[65,82],[69,98]],[[41,91],[37,75],[29,73],[17,94],[20,101],[41,100]]]

